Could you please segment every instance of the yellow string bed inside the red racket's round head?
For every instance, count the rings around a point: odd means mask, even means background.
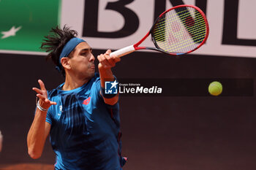
[[[167,53],[195,50],[206,37],[203,16],[192,7],[170,10],[154,26],[153,38]]]

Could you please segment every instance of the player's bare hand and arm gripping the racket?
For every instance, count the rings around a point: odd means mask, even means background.
[[[99,77],[100,77],[100,85],[102,88],[105,88],[105,80],[114,81],[115,77],[113,76],[113,72],[111,68],[116,66],[116,63],[119,62],[121,59],[118,58],[116,55],[110,56],[111,50],[107,50],[105,54],[98,55],[99,60]],[[100,92],[102,95],[102,92]],[[118,101],[118,94],[113,96],[112,98],[104,98],[105,104],[114,105]]]

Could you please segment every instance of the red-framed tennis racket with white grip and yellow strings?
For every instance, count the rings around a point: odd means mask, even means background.
[[[110,55],[121,57],[135,50],[157,50],[170,55],[191,53],[208,38],[208,21],[201,9],[193,5],[178,5],[163,12],[148,34],[135,45],[116,50]],[[155,47],[138,47],[151,34]]]

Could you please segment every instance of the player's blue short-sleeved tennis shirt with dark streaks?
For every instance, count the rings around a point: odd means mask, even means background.
[[[56,153],[55,169],[120,170],[121,132],[118,103],[105,104],[99,94],[99,74],[74,90],[48,92],[56,105],[48,109],[50,144]]]

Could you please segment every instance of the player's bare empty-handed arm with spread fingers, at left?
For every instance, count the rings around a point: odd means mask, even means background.
[[[39,107],[45,109],[42,111],[37,107],[34,115],[33,123],[29,129],[27,136],[28,152],[31,158],[37,159],[42,155],[42,150],[45,146],[45,139],[50,132],[50,123],[45,122],[48,108],[56,104],[56,102],[48,99],[47,90],[42,80],[38,80],[40,88],[33,88],[37,92],[39,98]]]

